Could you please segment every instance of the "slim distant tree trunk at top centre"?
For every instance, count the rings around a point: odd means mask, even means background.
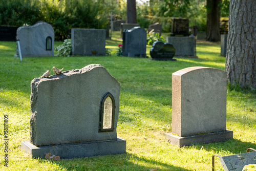
[[[136,0],[127,0],[126,23],[136,24]]]

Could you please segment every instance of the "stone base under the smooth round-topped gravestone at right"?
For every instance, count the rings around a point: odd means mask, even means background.
[[[211,142],[224,142],[229,139],[233,139],[233,132],[230,130],[203,134],[203,135],[194,135],[187,137],[179,137],[173,135],[172,133],[166,133],[165,138],[169,143],[173,145],[189,146],[194,143],[211,143]]]

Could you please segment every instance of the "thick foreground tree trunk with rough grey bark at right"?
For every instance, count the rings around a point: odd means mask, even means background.
[[[226,71],[240,88],[256,88],[255,7],[255,0],[232,0],[229,6]]]

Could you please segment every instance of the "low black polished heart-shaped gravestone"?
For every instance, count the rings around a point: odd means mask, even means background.
[[[155,41],[150,49],[150,56],[153,60],[176,60],[173,59],[174,55],[174,46],[162,41]]]

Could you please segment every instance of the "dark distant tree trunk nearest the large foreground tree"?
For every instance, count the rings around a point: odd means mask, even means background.
[[[207,0],[207,28],[206,40],[219,41],[220,40],[220,4],[221,0]]]

